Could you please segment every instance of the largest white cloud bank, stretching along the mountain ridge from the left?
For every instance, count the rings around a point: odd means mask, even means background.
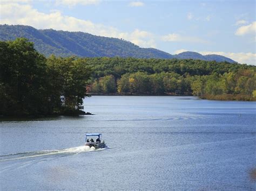
[[[121,32],[111,26],[65,16],[58,10],[43,13],[33,9],[29,4],[9,3],[1,5],[0,11],[0,24],[30,25],[37,29],[82,31],[99,36],[123,38],[142,47],[156,47],[153,34],[147,31],[136,29],[130,33]]]

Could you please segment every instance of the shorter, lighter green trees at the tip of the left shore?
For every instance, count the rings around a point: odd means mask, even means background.
[[[50,56],[47,61],[48,76],[50,79],[49,93],[51,105],[64,105],[72,110],[83,104],[86,86],[91,76],[91,68],[84,59],[76,57],[56,58]],[[62,100],[60,100],[62,98]]]

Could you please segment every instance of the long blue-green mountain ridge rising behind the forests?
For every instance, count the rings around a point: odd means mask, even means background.
[[[123,58],[177,58],[235,62],[225,56],[214,54],[204,56],[196,52],[183,52],[172,55],[155,48],[140,48],[123,39],[100,37],[85,32],[37,30],[24,25],[0,25],[0,40],[14,40],[18,37],[28,38],[35,44],[37,51],[45,56],[51,54],[84,57],[120,56]]]

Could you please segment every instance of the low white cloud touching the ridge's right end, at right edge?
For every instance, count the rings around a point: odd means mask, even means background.
[[[256,65],[256,54],[251,52],[210,52],[210,51],[202,51],[199,52],[200,54],[207,55],[207,54],[218,54],[222,56],[226,56],[227,58],[231,58],[238,63],[247,63],[249,65]]]

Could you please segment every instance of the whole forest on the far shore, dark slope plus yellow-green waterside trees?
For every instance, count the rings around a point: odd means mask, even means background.
[[[217,100],[255,100],[255,66],[178,59],[85,58],[92,93],[198,95]]]

